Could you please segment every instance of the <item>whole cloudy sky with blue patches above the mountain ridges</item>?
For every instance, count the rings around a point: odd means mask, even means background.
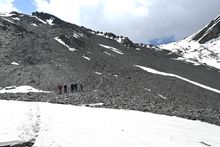
[[[220,0],[1,0],[1,11],[42,11],[134,42],[164,44],[200,30],[220,14]]]

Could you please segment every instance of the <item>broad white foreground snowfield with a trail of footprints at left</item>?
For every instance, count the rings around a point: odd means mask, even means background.
[[[0,100],[0,144],[35,147],[219,147],[220,127],[128,110]]]

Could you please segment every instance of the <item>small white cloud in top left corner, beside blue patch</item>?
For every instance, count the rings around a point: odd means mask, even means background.
[[[1,0],[0,1],[0,12],[11,12],[11,11],[17,11],[17,9],[13,6],[14,0]]]

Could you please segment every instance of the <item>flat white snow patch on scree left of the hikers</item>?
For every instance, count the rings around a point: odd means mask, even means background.
[[[0,93],[29,93],[29,92],[34,92],[34,93],[48,93],[48,91],[42,91],[35,89],[31,86],[10,86],[10,87],[5,87],[0,90]]]

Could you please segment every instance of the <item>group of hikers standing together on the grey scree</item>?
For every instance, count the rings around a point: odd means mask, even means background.
[[[59,94],[62,94],[62,92],[67,93],[68,92],[68,88],[67,85],[58,85],[58,90],[59,90]],[[82,84],[71,84],[70,85],[70,91],[72,93],[74,92],[83,92],[83,85]]]

